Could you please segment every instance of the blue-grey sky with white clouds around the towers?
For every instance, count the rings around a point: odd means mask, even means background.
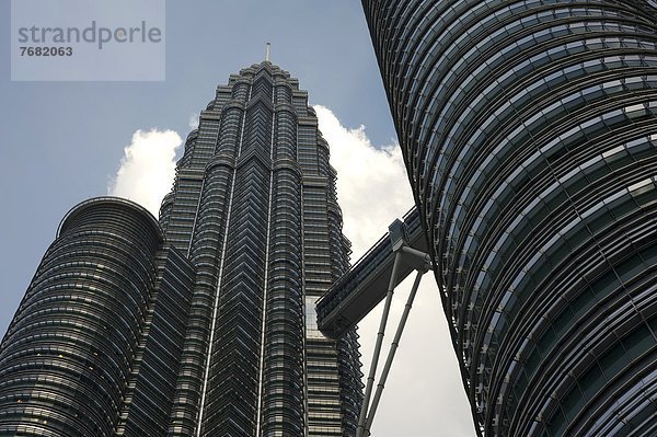
[[[353,261],[413,205],[358,1],[169,0],[164,80],[115,82],[12,81],[10,4],[0,1],[1,332],[71,207],[115,194],[158,209],[199,111],[229,74],[264,59],[266,42],[272,61],[308,90],[331,145]],[[384,344],[408,289],[406,280],[395,291]],[[360,323],[366,375],[380,310]],[[431,275],[418,290],[372,435],[475,435]]]

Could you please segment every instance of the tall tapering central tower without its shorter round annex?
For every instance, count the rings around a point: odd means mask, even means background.
[[[328,340],[314,315],[348,268],[335,177],[308,94],[268,61],[200,113],[160,219],[197,267],[175,435],[355,433],[357,335]]]

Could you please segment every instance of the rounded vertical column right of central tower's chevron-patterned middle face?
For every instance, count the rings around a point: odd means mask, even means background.
[[[301,174],[295,161],[274,168],[265,314],[262,435],[304,428]]]

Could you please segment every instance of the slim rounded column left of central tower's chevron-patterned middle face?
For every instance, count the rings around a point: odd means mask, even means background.
[[[244,81],[238,81],[233,94],[245,99],[247,91],[235,91],[244,85]],[[196,266],[196,280],[173,407],[174,429],[180,436],[191,436],[197,428],[203,396],[208,391],[207,356],[243,114],[241,101],[231,101],[222,107],[215,154],[206,165],[198,210],[194,211],[189,258]]]

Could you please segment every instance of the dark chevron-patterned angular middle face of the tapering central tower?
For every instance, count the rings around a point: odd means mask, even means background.
[[[245,105],[223,229],[228,238],[217,254],[222,265],[217,272],[201,436],[256,434],[272,195],[272,94],[270,72],[260,69]]]

